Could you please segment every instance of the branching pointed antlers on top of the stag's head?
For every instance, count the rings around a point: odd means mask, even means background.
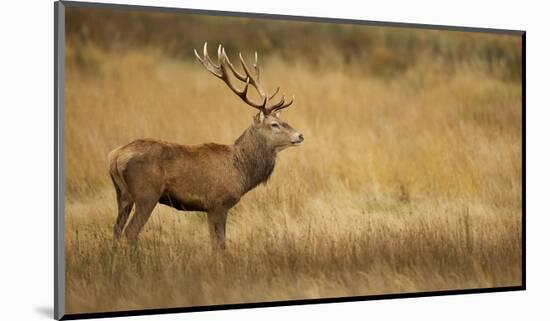
[[[203,47],[203,57],[201,58],[199,56],[199,53],[197,52],[197,50],[195,50],[195,56],[197,56],[197,59],[199,59],[199,61],[206,68],[206,70],[210,71],[214,76],[223,80],[227,84],[227,86],[237,96],[239,96],[245,103],[260,110],[261,112],[264,113],[264,115],[269,115],[277,110],[286,108],[292,105],[292,103],[294,102],[294,96],[289,102],[285,102],[285,95],[282,95],[281,99],[277,103],[275,104],[269,103],[273,98],[275,98],[275,96],[279,92],[279,87],[277,87],[275,92],[270,96],[266,94],[265,90],[260,84],[260,67],[258,66],[257,52],[254,53],[254,64],[252,65],[252,67],[254,68],[254,74],[252,74],[252,72],[244,62],[244,59],[241,53],[239,53],[239,60],[241,61],[244,74],[239,72],[227,57],[227,54],[225,53],[225,48],[223,48],[222,45],[218,46],[218,64],[217,65],[214,64],[210,59],[210,57],[208,56],[208,44],[206,42],[204,43],[204,47]],[[231,83],[227,69],[231,70],[231,73],[235,78],[245,83],[244,88],[242,90],[239,90],[237,87],[235,87]],[[247,93],[248,93],[249,85],[252,85],[252,87],[254,87],[258,92],[258,95],[262,99],[260,103],[256,103],[248,98]]]

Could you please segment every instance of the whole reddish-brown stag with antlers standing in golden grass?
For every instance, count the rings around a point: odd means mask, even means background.
[[[134,215],[124,229],[131,241],[137,239],[154,207],[161,203],[180,211],[207,212],[213,245],[225,248],[228,210],[245,193],[269,179],[278,152],[304,141],[302,134],[279,118],[281,109],[294,99],[286,102],[282,95],[274,102],[279,88],[271,95],[262,88],[257,53],[253,71],[239,54],[243,71],[238,71],[221,45],[217,64],[208,56],[206,43],[203,51],[200,57],[195,50],[202,65],[259,112],[233,145],[180,145],[140,139],[110,152],[109,171],[118,203],[115,240],[120,238],[134,204]],[[232,84],[230,73],[244,83],[242,89]],[[258,92],[260,102],[247,96],[250,86]]]

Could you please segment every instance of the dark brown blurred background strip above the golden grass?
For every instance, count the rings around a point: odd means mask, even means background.
[[[257,50],[290,65],[348,67],[380,77],[398,77],[423,60],[454,72],[479,63],[501,79],[521,80],[519,37],[471,32],[310,23],[204,15],[69,8],[68,43],[74,59],[93,64],[98,50],[154,49],[175,59],[194,59],[189,48],[205,41],[215,49],[223,40],[229,52]],[[85,44],[85,45],[84,45]],[[83,46],[84,45],[84,46]]]

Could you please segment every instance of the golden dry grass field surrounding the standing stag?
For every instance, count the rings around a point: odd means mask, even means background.
[[[163,205],[137,247],[113,247],[107,153],[231,144],[254,111],[191,60],[84,50],[93,70],[66,48],[67,313],[521,284],[521,84],[483,61],[425,57],[388,79],[261,59],[305,144],[230,211],[220,254],[205,214]]]

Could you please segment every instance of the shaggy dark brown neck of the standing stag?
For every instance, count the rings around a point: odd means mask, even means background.
[[[244,192],[266,183],[275,168],[277,152],[265,138],[254,127],[249,127],[237,138],[234,148],[234,164],[242,175]]]

